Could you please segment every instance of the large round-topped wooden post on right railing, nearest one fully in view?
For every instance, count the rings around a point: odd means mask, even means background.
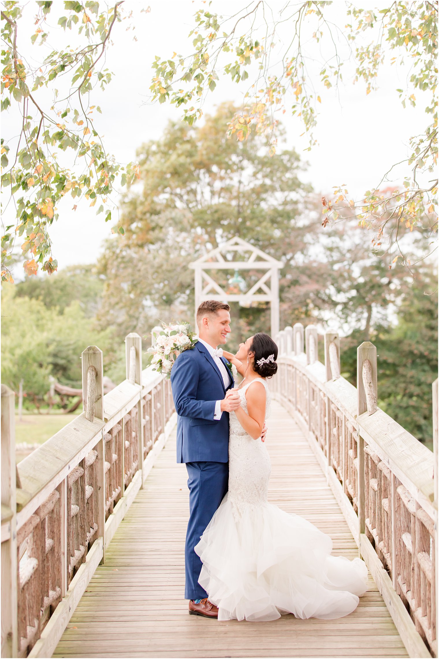
[[[364,341],[357,348],[357,418],[369,412],[377,411],[377,348],[370,341]],[[365,532],[365,460],[364,440],[357,430],[358,442],[358,538],[361,548],[361,534]],[[392,522],[395,517],[395,501],[392,498]],[[394,526],[392,526],[394,529]],[[392,539],[392,555],[394,542]]]

